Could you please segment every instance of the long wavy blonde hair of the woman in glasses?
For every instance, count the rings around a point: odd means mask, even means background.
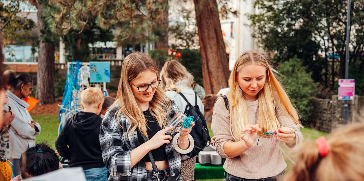
[[[126,128],[126,135],[130,135],[138,129],[140,133],[148,137],[147,122],[130,86],[130,82],[137,79],[146,70],[154,71],[158,78],[157,65],[148,55],[134,52],[125,57],[121,68],[118,93],[112,106],[120,106],[120,109],[115,113],[117,118],[122,113],[130,121],[130,126]],[[149,111],[155,117],[161,128],[166,125],[166,115],[170,112],[170,108],[171,102],[169,98],[161,87],[157,87],[152,100],[149,102]],[[120,122],[118,124],[123,128]]]

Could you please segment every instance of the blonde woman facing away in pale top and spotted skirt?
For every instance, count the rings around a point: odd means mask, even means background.
[[[168,97],[176,102],[179,111],[185,112],[185,109],[189,109],[188,103],[179,94],[182,93],[192,106],[195,106],[197,102],[198,108],[203,114],[202,101],[193,90],[193,76],[181,63],[172,59],[167,60],[159,75],[162,80],[162,88]],[[183,181],[194,180],[195,163],[196,156],[182,162],[181,176]]]

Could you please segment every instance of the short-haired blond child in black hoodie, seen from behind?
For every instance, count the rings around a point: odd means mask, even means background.
[[[102,118],[99,116],[104,96],[98,88],[87,88],[81,93],[84,111],[67,120],[56,141],[60,156],[70,161],[70,167],[82,166],[86,179],[107,180],[107,169],[102,161],[99,141]]]

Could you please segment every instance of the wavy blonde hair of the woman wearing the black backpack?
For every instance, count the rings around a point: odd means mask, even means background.
[[[181,92],[176,86],[178,81],[180,83],[186,81],[186,86],[191,89],[193,88],[193,75],[177,60],[168,59],[163,65],[159,76],[161,77],[162,89],[164,91],[175,90],[177,93]]]

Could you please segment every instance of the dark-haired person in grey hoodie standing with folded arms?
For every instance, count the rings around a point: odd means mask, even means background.
[[[35,145],[35,136],[40,134],[40,125],[33,121],[27,108],[29,104],[22,98],[32,94],[33,78],[28,74],[17,75],[9,80],[12,91],[7,90],[9,102],[16,114],[9,129],[9,156],[12,162],[12,177],[19,175],[19,160],[21,154]]]

